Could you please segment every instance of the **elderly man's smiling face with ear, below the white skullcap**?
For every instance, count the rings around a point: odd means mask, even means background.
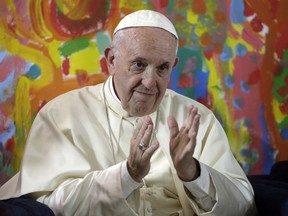
[[[130,115],[154,112],[166,91],[177,64],[175,37],[160,28],[141,27],[123,32],[116,49],[105,55],[114,89]]]

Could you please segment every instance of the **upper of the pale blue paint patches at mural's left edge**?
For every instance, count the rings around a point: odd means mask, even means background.
[[[3,82],[0,82],[0,103],[14,95],[14,74],[13,70]]]

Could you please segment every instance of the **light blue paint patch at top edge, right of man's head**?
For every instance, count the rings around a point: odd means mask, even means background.
[[[234,24],[241,24],[246,22],[246,17],[244,15],[244,0],[232,0],[230,7],[230,17],[231,22]]]

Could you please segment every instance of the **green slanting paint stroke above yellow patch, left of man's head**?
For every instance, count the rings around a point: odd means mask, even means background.
[[[59,47],[61,56],[67,57],[75,52],[85,49],[89,46],[90,40],[88,38],[76,38],[74,40],[67,41]]]

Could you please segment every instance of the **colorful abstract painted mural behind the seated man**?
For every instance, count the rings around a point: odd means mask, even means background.
[[[138,9],[175,24],[170,88],[214,111],[245,172],[288,159],[288,1],[0,0],[0,182],[19,169],[41,107],[105,80],[113,29]]]

